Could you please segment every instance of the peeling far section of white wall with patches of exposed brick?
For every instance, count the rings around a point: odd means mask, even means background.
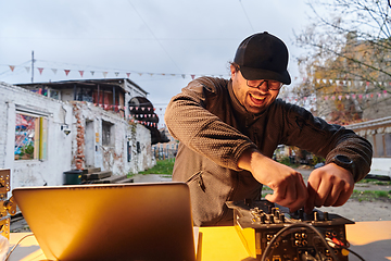
[[[72,103],[72,133],[74,135],[72,166],[74,169],[76,169],[76,158],[78,152],[81,153],[81,157],[88,159],[88,162],[92,161],[91,163],[94,167],[100,167],[102,171],[112,171],[113,175],[138,173],[146,169],[150,169],[155,164],[151,149],[151,133],[148,128],[140,124],[130,123],[128,120],[123,119],[118,113],[104,111],[90,102],[73,101]],[[109,146],[102,144],[103,121],[112,124],[112,142]],[[92,126],[87,126],[87,122]],[[77,128],[86,130],[81,142],[81,145],[86,146],[78,146],[77,137],[75,136],[77,134]],[[93,130],[91,132],[89,128],[92,128]],[[91,133],[93,137],[88,136],[88,134]],[[130,141],[131,144],[130,162],[127,161],[127,141]],[[136,148],[137,141],[140,142],[141,150],[139,153]],[[93,151],[89,148],[92,148]],[[91,157],[93,159],[89,160]],[[86,167],[86,165],[83,165],[83,167]]]

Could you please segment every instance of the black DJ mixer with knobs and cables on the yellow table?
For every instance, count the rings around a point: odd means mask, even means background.
[[[262,261],[348,261],[345,225],[337,214],[288,208],[267,200],[229,201],[236,229],[249,254]]]

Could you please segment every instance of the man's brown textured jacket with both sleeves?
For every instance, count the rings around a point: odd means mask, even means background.
[[[272,158],[278,145],[297,146],[324,157],[326,164],[343,154],[353,161],[355,182],[370,169],[371,145],[353,130],[281,99],[258,114],[249,113],[237,100],[231,80],[223,78],[192,80],[172,98],[165,123],[180,141],[173,181],[188,184],[197,226],[232,225],[226,201],[261,199],[262,184],[238,167],[249,148]]]

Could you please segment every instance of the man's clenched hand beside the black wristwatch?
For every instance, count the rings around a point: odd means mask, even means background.
[[[350,171],[335,163],[316,169],[308,177],[308,199],[304,210],[311,213],[314,207],[342,206],[353,194],[353,188],[354,179]]]

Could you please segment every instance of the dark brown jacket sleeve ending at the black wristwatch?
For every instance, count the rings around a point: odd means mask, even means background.
[[[355,182],[369,173],[373,148],[368,140],[343,126],[328,124],[303,108],[291,105],[288,114],[287,144],[324,157],[326,164],[338,154],[346,156],[353,161],[349,171]]]

